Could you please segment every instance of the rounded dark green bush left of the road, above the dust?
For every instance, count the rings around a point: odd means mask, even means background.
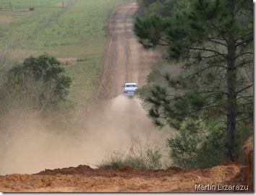
[[[26,101],[33,109],[57,108],[66,100],[71,79],[64,76],[64,68],[53,56],[44,54],[38,58],[26,58],[7,73],[7,85],[12,89],[14,102]],[[22,103],[20,102],[20,103]]]

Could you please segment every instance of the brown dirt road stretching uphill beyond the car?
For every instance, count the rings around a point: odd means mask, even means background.
[[[108,22],[108,47],[93,100],[120,95],[124,82],[146,84],[146,77],[160,53],[144,51],[133,33],[137,4],[116,7]]]

